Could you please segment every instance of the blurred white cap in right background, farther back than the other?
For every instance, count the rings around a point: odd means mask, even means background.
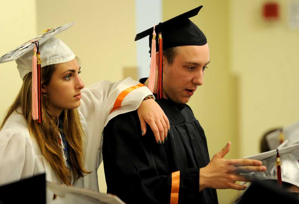
[[[283,141],[280,138],[281,133],[283,134]],[[266,141],[270,150],[276,149],[279,145],[281,145],[280,147],[285,147],[299,143],[299,122],[283,127],[282,132],[281,130],[276,130],[270,133],[266,136]]]

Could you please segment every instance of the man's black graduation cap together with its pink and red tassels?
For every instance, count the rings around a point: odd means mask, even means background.
[[[196,16],[202,6],[192,9],[186,13],[154,25],[152,28],[138,33],[135,41],[149,36],[149,53],[151,54],[149,89],[153,92],[156,73],[156,52],[159,52],[158,62],[158,98],[163,98],[162,85],[162,53],[163,49],[184,45],[205,45],[207,38],[205,34],[189,19]],[[158,38],[156,34],[158,33]],[[162,38],[163,36],[163,38]],[[158,41],[158,46],[156,42]]]

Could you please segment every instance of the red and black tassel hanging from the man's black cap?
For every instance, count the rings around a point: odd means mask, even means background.
[[[163,98],[163,39],[161,33],[159,33],[158,42],[159,42],[159,67],[158,67],[157,95],[158,98]]]

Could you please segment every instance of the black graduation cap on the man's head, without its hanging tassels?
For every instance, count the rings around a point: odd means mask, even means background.
[[[201,8],[202,6],[199,6],[155,26],[155,32],[162,34],[163,49],[183,45],[205,45],[207,43],[205,34],[189,19],[196,16]],[[153,29],[154,27],[149,28],[138,33],[135,37],[135,41],[137,41],[149,35],[149,53],[151,53]],[[157,40],[158,38],[156,38]],[[158,52],[158,46],[156,51]]]

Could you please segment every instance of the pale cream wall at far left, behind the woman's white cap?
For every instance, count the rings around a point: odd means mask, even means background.
[[[1,1],[0,56],[36,35],[36,1]],[[19,92],[22,80],[15,61],[0,64],[0,121]]]

